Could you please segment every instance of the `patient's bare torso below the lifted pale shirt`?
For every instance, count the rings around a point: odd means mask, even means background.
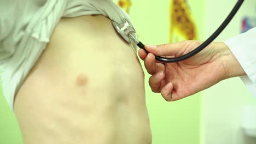
[[[60,20],[14,110],[24,144],[152,142],[142,67],[101,15]]]

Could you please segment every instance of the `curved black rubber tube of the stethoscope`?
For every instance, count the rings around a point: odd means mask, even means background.
[[[225,21],[222,23],[222,25],[219,26],[219,28],[211,35],[211,37],[209,37],[205,42],[203,42],[200,46],[196,47],[196,49],[194,49],[193,51],[180,56],[180,57],[174,57],[174,58],[165,58],[165,57],[160,57],[160,56],[155,56],[155,59],[160,61],[160,62],[165,62],[165,63],[174,63],[174,62],[180,62],[183,61],[184,59],[190,58],[194,55],[196,55],[196,53],[199,53],[201,50],[205,49],[206,46],[208,46],[210,43],[212,43],[212,41],[214,39],[216,39],[218,37],[218,35],[220,33],[222,33],[222,31],[225,29],[226,26],[228,26],[229,22],[232,20],[232,18],[236,15],[236,12],[238,11],[238,9],[241,7],[242,3],[244,0],[238,0],[238,2],[236,3],[235,7],[232,9],[232,11],[230,12],[230,14],[228,15],[228,17],[226,17]],[[147,52],[147,50],[144,47],[144,44],[141,43],[141,41],[139,41],[139,43],[137,44],[137,46],[143,50],[145,50]],[[147,52],[148,53],[148,52]]]

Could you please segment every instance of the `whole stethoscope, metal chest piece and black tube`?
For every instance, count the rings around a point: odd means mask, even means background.
[[[190,57],[196,55],[196,53],[205,49],[205,47],[207,45],[212,43],[212,41],[214,39],[216,39],[216,37],[218,37],[218,35],[223,31],[223,29],[225,29],[225,27],[229,24],[229,22],[235,16],[238,9],[240,9],[243,1],[244,0],[238,0],[235,7],[232,9],[232,11],[228,15],[228,17],[226,17],[226,19],[222,23],[222,25],[220,25],[219,28],[205,42],[203,42],[200,46],[198,46],[193,51],[191,51],[183,56],[180,56],[180,57],[165,58],[165,57],[155,56],[155,59],[160,62],[173,63],[173,62],[183,61],[184,59],[187,59],[187,58],[190,58]],[[117,30],[117,32],[121,35],[121,37],[123,37],[127,41],[127,43],[132,44],[132,42],[134,42],[139,48],[141,48],[147,52],[147,50],[144,47],[144,44],[141,43],[141,41],[139,41],[134,36],[134,34],[136,33],[135,28],[131,25],[131,23],[128,20],[123,19],[122,23],[120,23],[120,24],[115,21],[112,21],[112,23],[113,23],[113,26],[115,27],[115,29]]]

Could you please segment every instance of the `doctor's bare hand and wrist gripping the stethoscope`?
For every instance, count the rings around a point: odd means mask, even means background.
[[[195,56],[177,63],[162,63],[155,56],[179,57],[199,46],[202,41],[186,40],[164,45],[146,45],[138,51],[148,73],[149,85],[167,101],[195,94],[229,77],[245,75],[245,71],[224,43],[211,43]],[[154,55],[153,55],[154,54]]]

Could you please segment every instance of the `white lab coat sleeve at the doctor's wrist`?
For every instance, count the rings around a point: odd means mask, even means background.
[[[237,61],[246,72],[246,76],[240,76],[246,87],[256,98],[256,27],[246,33],[224,41],[234,53]]]

